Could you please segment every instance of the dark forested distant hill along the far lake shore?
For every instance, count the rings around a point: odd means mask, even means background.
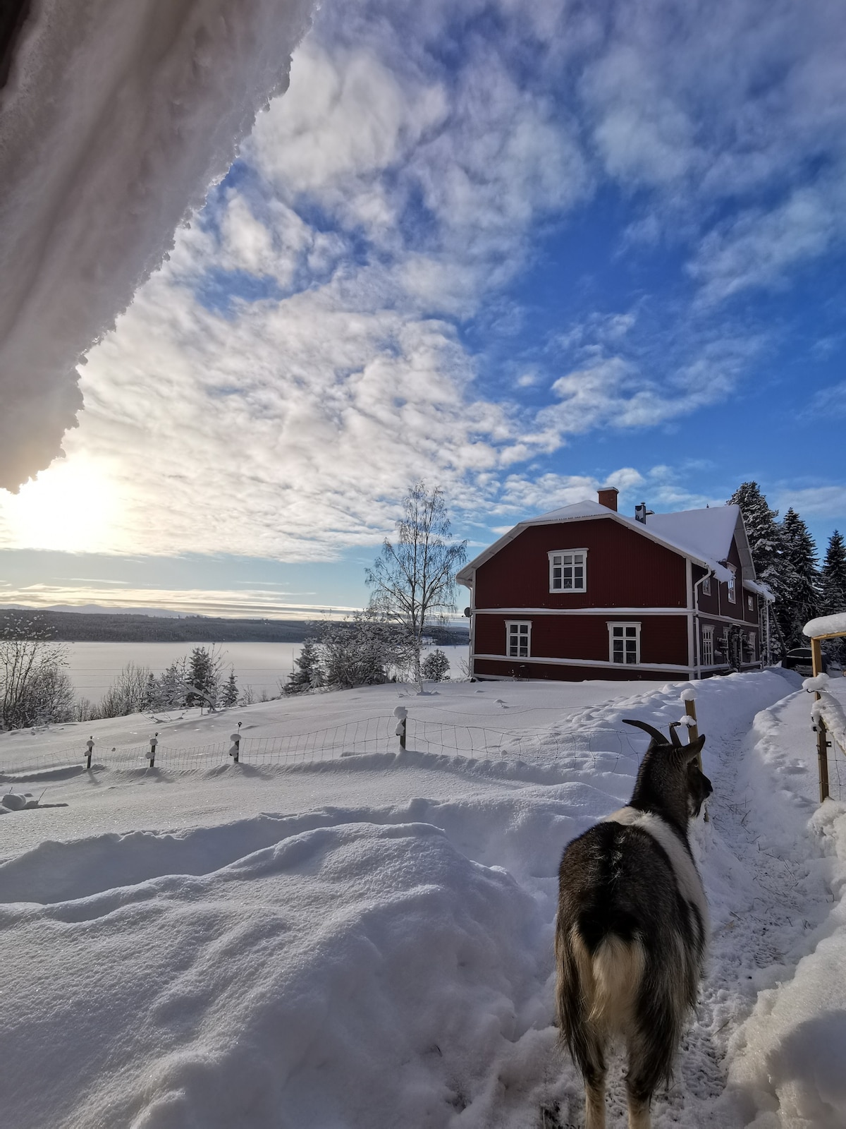
[[[60,642],[302,642],[312,633],[307,620],[224,620],[206,615],[173,619],[125,613],[0,610],[0,632],[37,619]],[[441,646],[469,641],[467,628],[431,628]]]

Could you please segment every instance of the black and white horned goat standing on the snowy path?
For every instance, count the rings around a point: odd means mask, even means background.
[[[708,911],[687,838],[711,781],[682,745],[643,721],[652,741],[627,807],[574,839],[558,877],[556,1010],[562,1043],[584,1078],[585,1129],[605,1129],[606,1049],[628,1052],[629,1129],[672,1060],[702,977]]]

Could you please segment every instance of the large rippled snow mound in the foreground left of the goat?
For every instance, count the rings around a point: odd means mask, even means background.
[[[26,944],[5,961],[3,1069],[38,1082],[7,1091],[6,1115],[443,1123],[526,1025],[513,1000],[538,973],[537,918],[513,878],[428,824],[320,828],[204,877],[6,905],[5,935]],[[45,997],[38,1038],[15,1038],[15,1001]]]

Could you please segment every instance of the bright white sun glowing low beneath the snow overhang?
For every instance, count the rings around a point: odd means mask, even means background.
[[[0,492],[0,536],[7,549],[114,551],[117,493],[104,466],[58,460],[17,495]]]

